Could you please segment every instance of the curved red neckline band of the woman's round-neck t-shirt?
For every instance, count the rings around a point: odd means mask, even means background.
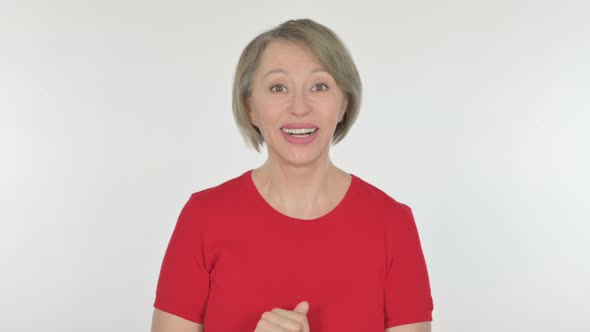
[[[299,219],[283,214],[266,201],[266,199],[262,196],[262,194],[258,191],[258,188],[256,188],[256,185],[254,184],[254,180],[252,179],[252,171],[253,169],[244,172],[244,174],[242,174],[242,178],[246,182],[246,187],[254,197],[254,201],[256,202],[256,204],[260,208],[262,208],[267,215],[272,216],[273,219],[280,219],[284,223],[299,225],[300,227],[313,227],[326,224],[331,220],[337,220],[337,217],[342,215],[342,211],[346,208],[346,206],[349,204],[349,201],[352,199],[351,197],[353,196],[354,191],[356,190],[358,181],[358,177],[356,175],[349,173],[349,175],[351,176],[351,181],[348,185],[346,193],[344,194],[344,197],[342,197],[340,202],[338,202],[338,204],[334,208],[332,208],[332,210],[314,219]]]

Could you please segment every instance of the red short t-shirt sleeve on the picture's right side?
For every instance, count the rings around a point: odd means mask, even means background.
[[[409,206],[385,213],[385,328],[432,321],[433,302],[418,229]]]

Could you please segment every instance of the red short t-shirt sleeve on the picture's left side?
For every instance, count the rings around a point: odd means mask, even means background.
[[[160,269],[154,307],[203,324],[209,296],[203,222],[194,194],[182,208]]]

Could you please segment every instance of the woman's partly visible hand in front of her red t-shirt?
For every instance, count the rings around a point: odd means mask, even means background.
[[[293,311],[274,308],[265,311],[254,332],[310,332],[307,321],[309,303],[302,301]]]

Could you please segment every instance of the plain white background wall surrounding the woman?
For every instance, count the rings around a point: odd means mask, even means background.
[[[410,205],[433,330],[588,331],[588,1],[2,1],[3,331],[148,331],[192,192],[257,167],[258,33],[333,29],[365,94],[332,150]],[[231,308],[228,308],[231,310]]]

